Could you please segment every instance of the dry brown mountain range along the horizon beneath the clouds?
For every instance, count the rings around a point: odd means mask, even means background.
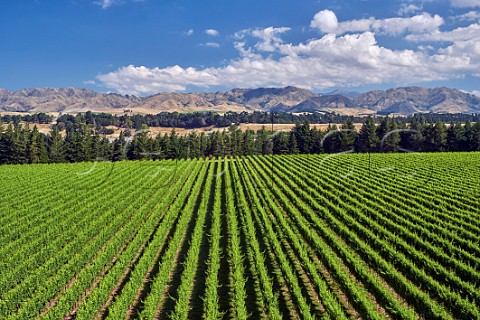
[[[0,112],[109,112],[155,114],[194,111],[335,112],[339,114],[479,113],[480,97],[446,87],[401,87],[365,93],[317,94],[296,87],[214,93],[158,93],[147,97],[77,88],[0,89]]]

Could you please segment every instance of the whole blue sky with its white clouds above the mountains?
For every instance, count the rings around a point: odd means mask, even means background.
[[[480,0],[0,2],[0,88],[479,94]]]

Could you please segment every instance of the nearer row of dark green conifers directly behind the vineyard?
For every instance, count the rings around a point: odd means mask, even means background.
[[[267,129],[242,132],[231,125],[212,133],[190,132],[179,136],[175,129],[169,134],[150,137],[143,129],[110,141],[96,125],[75,122],[60,134],[54,126],[49,134],[39,132],[35,125],[0,124],[0,164],[57,163],[83,161],[120,161],[139,159],[200,158],[206,156],[242,156],[268,154],[315,154],[337,152],[436,152],[480,151],[480,121],[467,120],[446,124],[425,117],[404,119],[385,117],[377,125],[366,118],[357,132],[352,119],[325,131],[311,128],[307,120],[297,123],[290,132]]]

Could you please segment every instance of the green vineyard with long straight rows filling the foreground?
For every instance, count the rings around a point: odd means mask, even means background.
[[[480,319],[480,153],[0,179],[0,319]]]

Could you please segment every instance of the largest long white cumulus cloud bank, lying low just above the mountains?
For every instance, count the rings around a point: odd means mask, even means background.
[[[377,44],[372,32],[336,36],[298,45],[281,44],[274,59],[254,47],[238,45],[250,54],[231,60],[221,68],[147,68],[127,66],[98,76],[107,87],[137,95],[185,91],[188,87],[209,88],[294,85],[323,90],[334,86],[413,83],[462,77],[480,70],[472,60],[472,48],[452,46],[429,55],[422,51],[392,50]],[[479,55],[480,56],[480,55]]]

